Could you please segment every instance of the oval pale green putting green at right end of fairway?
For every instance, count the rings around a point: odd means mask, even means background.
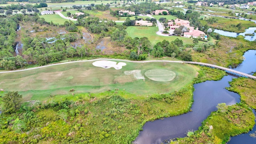
[[[172,70],[155,69],[147,70],[145,76],[157,82],[169,82],[176,77],[176,73]]]

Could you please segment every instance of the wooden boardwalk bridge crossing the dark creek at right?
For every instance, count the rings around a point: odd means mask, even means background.
[[[243,73],[243,72],[238,72],[238,71],[232,70],[230,68],[224,68],[222,66],[216,66],[214,64],[206,64],[206,63],[203,63],[203,62],[187,62],[187,61],[183,61],[183,62],[187,63],[187,64],[199,64],[199,65],[202,65],[202,66],[209,66],[211,68],[218,68],[220,70],[225,70],[226,72],[228,72],[230,74],[235,74],[237,76],[242,76],[242,77],[246,77],[246,78],[256,79],[256,76],[252,76],[250,74],[246,74],[246,73]]]

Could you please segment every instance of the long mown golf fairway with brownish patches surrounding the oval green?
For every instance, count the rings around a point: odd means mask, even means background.
[[[104,92],[119,88],[138,95],[153,93],[166,93],[179,90],[196,76],[194,67],[181,63],[150,62],[133,63],[125,62],[121,70],[114,68],[104,69],[95,67],[92,62],[75,62],[48,66],[22,72],[0,74],[0,88],[4,91],[18,91],[24,100],[44,100],[50,95],[71,94],[82,92]],[[126,75],[128,70],[166,69],[176,73],[170,82],[156,82],[145,78],[136,79],[133,74]]]

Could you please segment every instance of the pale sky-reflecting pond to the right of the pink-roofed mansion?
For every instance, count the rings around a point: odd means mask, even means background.
[[[242,33],[236,33],[236,32],[227,32],[227,31],[224,31],[224,30],[217,30],[215,29],[214,32],[222,35],[222,36],[229,36],[229,37],[234,37],[236,38],[237,36],[244,36],[246,40],[249,40],[249,41],[253,41],[256,39],[256,35],[254,36],[245,36],[245,34],[254,34],[254,30],[256,30],[256,27],[252,27],[252,28],[248,28],[245,30],[245,32],[242,32]]]

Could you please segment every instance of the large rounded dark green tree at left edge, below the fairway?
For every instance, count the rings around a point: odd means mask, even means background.
[[[5,113],[13,113],[20,108],[22,100],[22,95],[18,94],[18,92],[8,92],[3,97],[4,102],[4,112]]]

